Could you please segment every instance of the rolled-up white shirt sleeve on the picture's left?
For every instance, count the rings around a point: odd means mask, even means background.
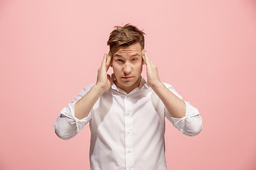
[[[93,85],[94,84],[86,86],[84,89],[82,89],[78,96],[76,96],[71,103],[68,103],[67,107],[60,111],[60,115],[58,115],[58,118],[55,120],[54,129],[55,134],[61,139],[69,140],[70,138],[77,135],[78,132],[80,132],[82,128],[84,128],[84,126],[90,122],[92,118],[92,111],[90,111],[87,117],[81,120],[75,118],[75,103],[79,101],[82,96],[85,96],[85,94],[90,91]]]

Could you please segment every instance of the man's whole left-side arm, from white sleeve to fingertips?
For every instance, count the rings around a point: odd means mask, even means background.
[[[90,121],[89,116],[92,106],[97,99],[110,89],[110,75],[107,69],[110,66],[110,55],[104,55],[100,69],[98,69],[97,83],[95,86],[87,86],[82,89],[78,96],[68,107],[60,111],[60,115],[55,120],[55,133],[63,140],[69,140],[74,137],[86,123]]]

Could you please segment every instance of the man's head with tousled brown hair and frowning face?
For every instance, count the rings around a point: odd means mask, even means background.
[[[129,24],[116,28],[107,41],[112,57],[111,67],[117,79],[114,83],[129,93],[139,86],[141,80],[145,33]]]

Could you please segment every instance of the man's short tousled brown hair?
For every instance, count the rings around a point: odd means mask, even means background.
[[[127,23],[125,26],[115,26],[115,30],[110,33],[110,38],[107,45],[110,45],[110,52],[116,51],[119,47],[132,45],[139,42],[144,49],[144,32],[139,30],[136,26]],[[146,34],[145,34],[146,35]]]

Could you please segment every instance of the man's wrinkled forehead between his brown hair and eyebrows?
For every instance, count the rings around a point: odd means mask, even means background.
[[[128,46],[123,46],[119,47],[114,51],[113,55],[125,55],[125,54],[134,54],[134,53],[141,53],[142,52],[142,47],[139,44],[139,42],[128,45]]]

